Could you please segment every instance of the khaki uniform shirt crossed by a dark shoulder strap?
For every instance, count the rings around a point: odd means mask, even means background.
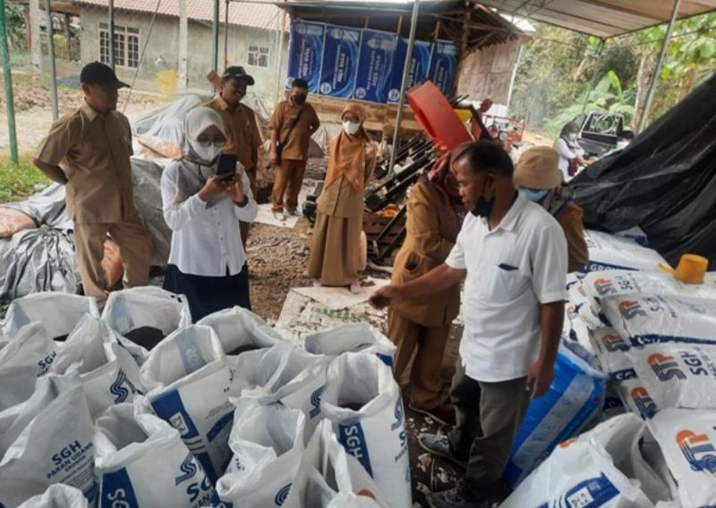
[[[276,110],[274,110],[274,114],[271,117],[270,127],[272,130],[278,131],[277,140],[279,143],[283,143],[286,140],[286,135],[291,130],[291,126],[294,124],[298,114],[301,113],[301,109],[302,106],[296,106],[287,100],[276,106]],[[303,110],[301,120],[291,131],[291,135],[281,151],[282,159],[308,160],[311,132],[319,128],[320,120],[316,110],[310,104],[304,104]]]

